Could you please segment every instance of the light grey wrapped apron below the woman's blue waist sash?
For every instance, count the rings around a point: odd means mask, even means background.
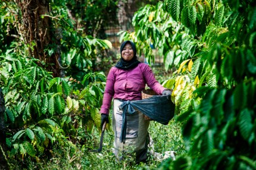
[[[113,106],[113,131],[114,131],[114,154],[118,160],[123,158],[123,154],[136,153],[136,161],[141,162],[146,159],[149,121],[144,115],[136,110],[135,114],[127,114],[126,141],[121,143],[120,134],[122,127],[123,111],[119,109],[121,100],[114,99]]]

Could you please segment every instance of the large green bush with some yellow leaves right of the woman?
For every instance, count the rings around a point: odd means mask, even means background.
[[[163,167],[256,168],[255,14],[252,1],[167,0],[141,8],[135,32],[122,34],[149,59],[153,42],[166,69],[177,69],[164,86],[173,89],[178,120],[185,122],[188,153]]]

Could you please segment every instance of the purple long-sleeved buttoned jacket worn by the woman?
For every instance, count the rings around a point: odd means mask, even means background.
[[[121,100],[141,100],[141,92],[145,89],[145,84],[148,84],[148,87],[158,95],[161,95],[166,89],[155,80],[154,74],[147,64],[140,63],[132,70],[112,67],[108,73],[100,112],[109,114],[113,97]]]

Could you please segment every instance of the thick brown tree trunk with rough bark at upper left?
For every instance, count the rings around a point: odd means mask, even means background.
[[[49,53],[45,52],[48,45],[58,45],[49,16],[48,0],[15,0],[15,2],[21,11],[21,16],[16,17],[17,30],[21,39],[29,46],[30,56],[39,59],[38,65],[52,71],[54,77],[60,77],[61,67],[58,62],[60,53],[55,52],[49,56]]]

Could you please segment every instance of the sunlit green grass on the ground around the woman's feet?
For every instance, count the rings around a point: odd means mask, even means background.
[[[177,156],[185,153],[185,147],[181,136],[181,125],[171,120],[168,125],[162,125],[151,121],[149,133],[154,141],[154,151],[164,153],[173,150]],[[26,164],[24,169],[158,169],[161,160],[155,160],[149,156],[147,163],[135,164],[135,156],[126,156],[121,162],[115,160],[112,152],[114,134],[107,130],[104,135],[104,144],[101,153],[90,152],[90,149],[98,149],[100,134],[93,130],[93,134],[87,136],[88,141],[84,145],[76,144],[76,147],[54,147],[49,159],[27,158],[21,164]],[[151,148],[150,148],[151,149]],[[14,162],[13,162],[14,163]],[[16,162],[17,163],[17,162]],[[23,169],[20,163],[15,169]]]

